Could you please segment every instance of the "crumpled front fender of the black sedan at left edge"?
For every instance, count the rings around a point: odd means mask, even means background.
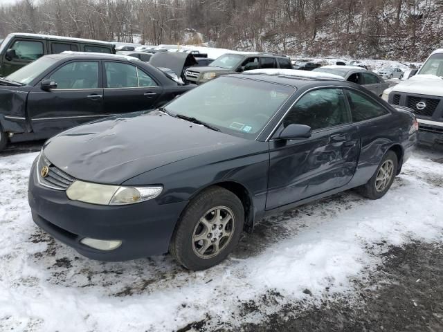
[[[26,122],[26,98],[28,91],[12,86],[0,86],[0,124],[3,131],[24,133]]]

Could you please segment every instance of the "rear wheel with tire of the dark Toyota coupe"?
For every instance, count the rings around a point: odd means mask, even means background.
[[[368,183],[358,188],[360,194],[368,199],[381,199],[394,182],[397,167],[397,154],[391,150],[387,151],[372,178]]]

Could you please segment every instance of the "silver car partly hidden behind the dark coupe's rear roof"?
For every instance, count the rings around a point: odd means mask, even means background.
[[[349,82],[363,85],[366,89],[374,93],[374,95],[378,95],[380,97],[383,94],[383,91],[389,87],[389,84],[383,81],[379,75],[373,71],[368,71],[367,69],[361,67],[323,66],[314,69],[314,71],[339,75]]]

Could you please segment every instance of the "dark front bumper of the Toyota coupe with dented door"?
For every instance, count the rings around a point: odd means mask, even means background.
[[[71,201],[66,192],[42,187],[30,171],[28,201],[34,222],[81,255],[100,261],[125,261],[168,252],[181,211],[188,202],[159,205],[156,200],[106,206]],[[120,240],[104,251],[80,243],[85,238]]]

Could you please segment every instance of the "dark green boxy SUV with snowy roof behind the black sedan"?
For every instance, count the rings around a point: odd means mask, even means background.
[[[5,77],[48,54],[74,52],[116,53],[114,44],[71,37],[11,33],[0,44],[0,77]]]

